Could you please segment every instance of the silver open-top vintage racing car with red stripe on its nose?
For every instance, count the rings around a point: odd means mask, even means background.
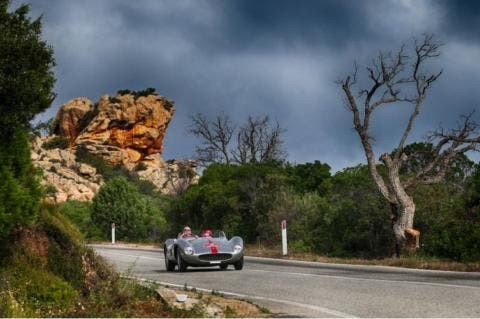
[[[223,231],[216,231],[211,237],[187,237],[167,239],[163,247],[165,267],[183,272],[188,266],[219,266],[227,269],[233,265],[236,270],[243,268],[243,240],[235,236],[227,239]]]

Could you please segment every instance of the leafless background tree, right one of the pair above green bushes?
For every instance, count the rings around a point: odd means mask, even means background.
[[[237,148],[233,158],[240,164],[284,159],[286,153],[282,149],[281,139],[284,132],[278,121],[271,123],[268,116],[249,116],[247,123],[237,133]]]

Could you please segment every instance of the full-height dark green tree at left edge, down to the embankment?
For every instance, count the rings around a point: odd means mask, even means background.
[[[22,5],[8,11],[0,1],[0,238],[28,224],[41,190],[30,161],[28,129],[47,109],[52,92],[52,49],[41,39],[41,20],[30,20]]]

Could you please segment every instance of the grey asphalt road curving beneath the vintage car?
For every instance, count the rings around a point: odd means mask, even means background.
[[[167,272],[163,252],[93,246],[121,272],[249,299],[301,317],[480,317],[480,273],[288,262],[248,257],[241,271]]]

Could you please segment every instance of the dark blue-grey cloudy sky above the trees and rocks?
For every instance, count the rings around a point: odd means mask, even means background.
[[[11,7],[27,1],[13,1]],[[287,128],[288,159],[333,170],[364,162],[335,80],[422,33],[445,45],[431,64],[444,73],[410,141],[474,109],[480,122],[480,1],[32,0],[55,50],[58,94],[41,119],[77,96],[155,87],[176,102],[164,158],[193,155],[188,116],[221,111],[241,122],[270,115]],[[405,105],[375,114],[378,153],[391,150]],[[474,156],[476,160],[478,156]]]

